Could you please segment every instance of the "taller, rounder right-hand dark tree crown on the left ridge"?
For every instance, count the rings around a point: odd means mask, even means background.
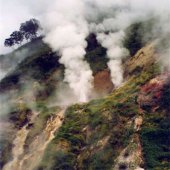
[[[39,21],[36,19],[30,19],[20,26],[20,31],[23,33],[25,39],[33,40],[37,37],[39,29]]]

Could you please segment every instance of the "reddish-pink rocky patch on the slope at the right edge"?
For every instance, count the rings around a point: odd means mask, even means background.
[[[141,87],[137,102],[144,110],[155,111],[160,107],[161,100],[164,100],[164,89],[169,83],[170,74],[165,73],[151,79]]]

